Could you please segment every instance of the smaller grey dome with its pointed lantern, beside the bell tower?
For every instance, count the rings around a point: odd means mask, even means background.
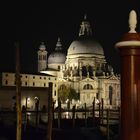
[[[55,51],[48,57],[48,64],[64,64],[66,55],[62,52],[62,44],[58,38]]]

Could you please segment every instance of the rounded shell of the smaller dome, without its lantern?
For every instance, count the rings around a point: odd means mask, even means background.
[[[53,52],[48,57],[48,64],[64,64],[66,55],[62,52]]]

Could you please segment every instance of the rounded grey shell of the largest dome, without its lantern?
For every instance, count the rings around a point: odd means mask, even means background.
[[[68,49],[68,55],[95,54],[104,55],[102,46],[94,39],[80,37],[73,41]]]

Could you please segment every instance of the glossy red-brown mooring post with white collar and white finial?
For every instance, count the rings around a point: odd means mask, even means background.
[[[140,139],[140,34],[136,13],[129,15],[130,31],[116,44],[121,56],[121,140]]]

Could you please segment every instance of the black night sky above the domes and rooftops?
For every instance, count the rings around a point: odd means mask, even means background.
[[[78,37],[84,14],[91,23],[93,37],[104,48],[106,60],[120,71],[119,52],[114,45],[129,31],[128,16],[134,9],[140,21],[140,4],[135,0],[92,0],[5,2],[1,4],[0,71],[15,71],[15,46],[21,48],[21,71],[37,72],[37,50],[44,41],[49,54],[58,36],[67,51]],[[140,23],[139,23],[140,25]],[[140,31],[140,26],[137,27]]]

